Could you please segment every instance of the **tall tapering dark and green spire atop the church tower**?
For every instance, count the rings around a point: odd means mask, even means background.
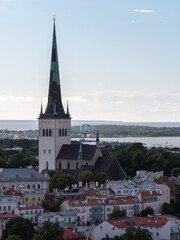
[[[57,44],[56,44],[55,17],[54,17],[51,68],[50,68],[50,79],[49,79],[49,95],[48,95],[47,107],[43,114],[43,117],[68,118],[68,116],[64,112],[62,99],[61,99],[58,53],[57,53]]]

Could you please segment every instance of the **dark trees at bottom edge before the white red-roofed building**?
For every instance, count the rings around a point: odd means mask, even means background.
[[[110,238],[106,235],[106,237],[101,240],[152,240],[152,237],[147,229],[128,227],[126,228],[126,232],[121,236]]]

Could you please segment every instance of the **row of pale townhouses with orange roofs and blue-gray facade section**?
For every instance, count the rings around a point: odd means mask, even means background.
[[[132,197],[108,198],[101,196],[96,199],[76,199],[65,200],[61,204],[61,211],[73,209],[77,214],[78,223],[87,224],[91,221],[104,221],[109,219],[109,215],[115,208],[125,210],[127,216],[139,214],[147,207],[152,207],[155,213],[161,210],[160,194],[153,192],[141,192]]]

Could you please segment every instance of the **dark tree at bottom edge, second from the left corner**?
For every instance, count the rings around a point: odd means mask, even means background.
[[[43,223],[42,228],[35,233],[32,240],[63,240],[64,231],[59,226],[59,223],[46,221]]]

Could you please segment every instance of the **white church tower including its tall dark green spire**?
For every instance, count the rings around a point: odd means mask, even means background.
[[[71,117],[67,104],[64,112],[61,99],[58,54],[56,44],[55,19],[51,54],[48,102],[39,115],[39,172],[43,169],[55,170],[56,157],[63,144],[71,144]]]

